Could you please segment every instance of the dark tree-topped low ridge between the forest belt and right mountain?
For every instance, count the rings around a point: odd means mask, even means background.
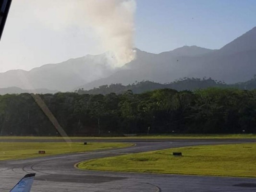
[[[236,83],[236,84],[226,84],[223,81],[213,80],[211,78],[182,78],[177,81],[167,83],[167,84],[159,84],[151,81],[142,81],[135,82],[134,84],[122,85],[122,84],[110,84],[110,85],[101,85],[98,88],[84,90],[80,88],[75,92],[78,94],[122,94],[125,91],[132,90],[135,94],[140,94],[145,91],[153,91],[156,89],[175,89],[177,91],[190,90],[194,91],[196,89],[206,89],[208,87],[222,87],[222,88],[237,88],[237,89],[246,89],[252,90],[256,89],[256,76],[246,82]]]

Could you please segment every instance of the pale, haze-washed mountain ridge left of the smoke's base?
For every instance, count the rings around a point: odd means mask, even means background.
[[[10,70],[0,73],[0,87],[22,89],[47,88],[69,91],[80,84],[107,77],[115,69],[110,65],[110,55],[86,55],[61,63],[46,64],[30,71]],[[111,58],[112,59],[112,58]]]

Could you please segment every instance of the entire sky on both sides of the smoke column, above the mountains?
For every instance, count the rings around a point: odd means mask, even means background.
[[[12,0],[0,42],[0,72],[107,51],[86,18],[66,16],[75,1],[81,0]],[[147,52],[185,45],[219,49],[256,26],[256,0],[134,1],[134,47]]]

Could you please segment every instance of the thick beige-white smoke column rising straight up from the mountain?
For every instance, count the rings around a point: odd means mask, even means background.
[[[115,66],[122,66],[135,57],[135,0],[86,0],[86,22],[101,38],[102,46],[113,54]]]

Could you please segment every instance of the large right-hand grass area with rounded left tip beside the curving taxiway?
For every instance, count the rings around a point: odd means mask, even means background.
[[[172,156],[182,152],[182,157]],[[85,161],[78,168],[212,176],[256,177],[256,144],[172,148]]]

